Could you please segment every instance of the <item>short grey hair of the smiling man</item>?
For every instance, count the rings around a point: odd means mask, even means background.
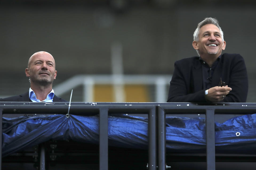
[[[219,31],[221,32],[221,38],[222,38],[222,42],[224,41],[224,35],[223,35],[223,31],[221,30],[221,27],[219,26],[219,22],[217,19],[215,18],[205,18],[203,21],[201,21],[198,25],[197,25],[197,29],[195,29],[195,32],[193,34],[194,37],[194,41],[198,41],[199,39],[199,30],[202,26],[206,25],[206,24],[214,24],[219,28]],[[197,54],[199,55],[198,50]],[[200,56],[200,55],[199,55]]]

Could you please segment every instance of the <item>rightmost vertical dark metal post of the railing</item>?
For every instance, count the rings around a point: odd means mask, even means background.
[[[206,158],[207,170],[215,170],[214,109],[206,110]]]

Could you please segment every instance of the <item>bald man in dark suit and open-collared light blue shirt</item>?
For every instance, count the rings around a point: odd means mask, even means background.
[[[66,102],[54,94],[53,80],[56,79],[55,61],[50,53],[40,51],[34,53],[25,69],[30,80],[29,91],[25,94],[7,97],[0,101],[14,102]]]

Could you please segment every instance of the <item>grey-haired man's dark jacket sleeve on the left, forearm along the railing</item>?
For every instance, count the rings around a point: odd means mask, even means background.
[[[184,69],[183,69],[184,70]],[[190,86],[190,73],[183,73],[182,66],[178,61],[174,63],[174,72],[170,81],[170,88],[167,102],[198,102],[205,103],[205,91],[200,90],[195,93],[188,94]]]

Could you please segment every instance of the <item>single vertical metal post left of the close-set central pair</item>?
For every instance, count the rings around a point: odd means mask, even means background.
[[[108,169],[108,109],[99,111],[99,169]]]

